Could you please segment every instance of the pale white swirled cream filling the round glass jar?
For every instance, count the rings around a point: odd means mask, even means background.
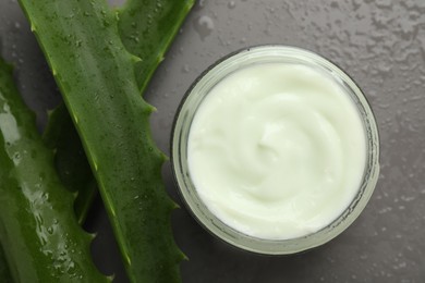
[[[288,239],[337,219],[366,160],[361,116],[323,71],[250,65],[207,95],[190,128],[187,162],[207,208],[254,237]]]

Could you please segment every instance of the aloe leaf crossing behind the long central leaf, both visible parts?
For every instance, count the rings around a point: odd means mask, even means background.
[[[193,4],[194,0],[158,0],[147,3],[129,0],[118,11],[119,32],[125,48],[144,59],[136,66],[142,91],[162,61]],[[78,194],[74,208],[78,222],[83,223],[97,187],[80,137],[63,104],[49,113],[44,140],[57,150],[56,164],[62,183],[71,192]]]

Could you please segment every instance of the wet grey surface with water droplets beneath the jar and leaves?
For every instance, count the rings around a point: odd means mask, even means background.
[[[119,1],[112,1],[119,2]],[[0,0],[2,54],[16,64],[20,87],[37,112],[59,101],[42,54],[14,0]],[[198,1],[147,91],[151,125],[169,152],[184,93],[220,57],[253,45],[316,51],[364,90],[381,138],[381,174],[361,217],[332,242],[295,256],[233,249],[205,232],[183,208],[172,216],[175,239],[191,259],[184,282],[425,282],[425,2],[423,0]],[[181,204],[167,164],[170,195]],[[104,271],[126,282],[100,201],[88,229]]]

